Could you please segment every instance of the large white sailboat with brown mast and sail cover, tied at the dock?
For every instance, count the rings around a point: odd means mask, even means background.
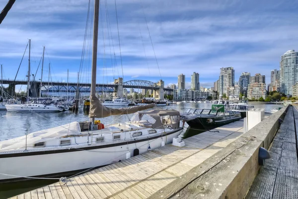
[[[154,104],[113,109],[95,96],[99,0],[94,5],[90,121],[0,142],[0,182],[63,177],[111,164],[171,143],[183,131],[180,113],[150,110]],[[129,123],[103,125],[95,118],[132,114]]]

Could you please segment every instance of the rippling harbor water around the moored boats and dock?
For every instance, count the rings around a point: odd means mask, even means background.
[[[157,106],[155,109],[174,109],[180,111],[180,113],[183,113],[189,108],[210,109],[211,105],[211,103],[181,103],[180,105],[173,104],[169,106]],[[270,112],[270,110],[278,109],[279,107],[282,107],[282,105],[254,104],[254,107],[264,109],[265,112]],[[101,119],[101,122],[103,124],[125,123],[129,122],[129,119],[132,118],[132,115],[133,114],[111,116]],[[60,113],[14,113],[0,111],[0,141],[22,136],[26,133],[32,133],[60,125],[65,125],[74,121],[82,122],[88,120],[88,115],[84,115],[82,110],[79,110],[77,114],[74,114],[71,111]],[[187,125],[185,130],[187,130]],[[199,131],[195,129],[188,129],[185,134],[187,134],[187,137],[189,137],[202,132],[202,130]],[[49,165],[49,167],[50,166],[51,165]],[[26,169],[26,165],[23,165],[23,167]],[[28,192],[54,182],[56,182],[56,180],[34,180],[19,183],[0,184],[0,199],[16,196],[18,194]]]

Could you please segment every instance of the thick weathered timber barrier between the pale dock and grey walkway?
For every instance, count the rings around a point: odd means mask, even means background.
[[[279,128],[280,119],[284,119],[288,107],[269,116],[202,164],[161,189],[163,198],[244,198],[260,169],[259,148],[269,148]],[[150,198],[160,198],[160,194]]]

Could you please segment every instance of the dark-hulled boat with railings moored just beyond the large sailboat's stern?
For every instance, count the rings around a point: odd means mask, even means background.
[[[241,119],[239,112],[221,112],[213,109],[188,109],[183,119],[192,128],[211,130]]]

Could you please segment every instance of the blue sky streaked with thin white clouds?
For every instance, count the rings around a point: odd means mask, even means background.
[[[6,2],[0,0],[0,9]],[[70,82],[78,71],[80,83],[90,82],[94,0],[88,2],[17,0],[0,24],[3,78],[15,77],[31,39],[31,73],[45,46],[43,79],[50,63],[52,81],[66,82],[69,69]],[[220,68],[229,66],[235,81],[250,72],[270,83],[280,57],[298,51],[297,10],[298,0],[116,0],[116,6],[101,0],[97,83],[123,76],[162,79],[167,86],[183,73],[190,88],[191,74],[198,72],[201,86],[211,87]],[[27,70],[28,49],[17,79],[25,79]],[[41,66],[35,78],[41,78]]]

